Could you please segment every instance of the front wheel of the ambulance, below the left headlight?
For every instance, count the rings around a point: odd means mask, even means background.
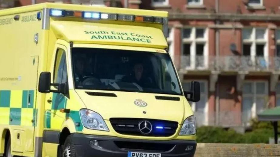
[[[67,136],[62,148],[62,157],[76,157],[75,145],[72,142],[71,135]]]

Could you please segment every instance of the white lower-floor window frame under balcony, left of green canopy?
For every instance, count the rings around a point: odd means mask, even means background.
[[[253,98],[253,104],[252,104],[252,108],[251,108],[251,118],[255,118],[257,116],[257,97],[267,97],[268,98],[268,81],[267,80],[245,80],[244,83],[252,83],[252,91],[253,93],[244,93],[242,90],[242,99],[244,97],[251,97]],[[257,94],[257,83],[265,83],[265,92],[264,94]],[[242,103],[242,111],[241,111],[241,115],[243,116],[243,103]],[[242,123],[244,123],[242,121]],[[250,123],[247,122],[245,123],[245,126],[249,126]]]

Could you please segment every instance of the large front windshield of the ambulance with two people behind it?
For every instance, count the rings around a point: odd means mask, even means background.
[[[76,89],[181,95],[166,53],[72,48]]]

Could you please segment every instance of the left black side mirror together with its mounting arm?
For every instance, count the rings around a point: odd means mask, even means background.
[[[58,90],[51,90],[51,86],[56,86]],[[40,93],[62,93],[67,94],[68,88],[67,83],[51,83],[51,73],[42,72],[39,78],[39,87],[38,90]]]

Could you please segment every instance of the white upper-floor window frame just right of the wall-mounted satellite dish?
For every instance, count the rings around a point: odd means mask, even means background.
[[[242,54],[244,53],[243,50],[243,45],[244,44],[251,44],[251,61],[255,64],[255,57],[257,54],[256,51],[256,47],[257,44],[264,44],[264,58],[265,58],[265,62],[267,64],[267,69],[268,69],[268,61],[269,61],[269,57],[268,57],[268,29],[267,28],[263,28],[263,27],[245,27],[243,29],[252,29],[252,34],[251,34],[251,38],[250,39],[243,39],[243,34],[242,34]],[[264,29],[265,30],[265,34],[264,34],[264,39],[256,39],[256,30],[257,29]]]

